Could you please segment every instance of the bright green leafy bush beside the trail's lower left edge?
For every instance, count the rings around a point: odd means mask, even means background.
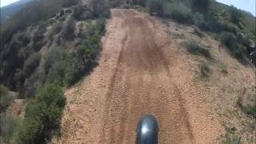
[[[66,99],[62,87],[56,84],[45,84],[26,106],[26,118],[39,117],[46,129],[58,126],[62,108]]]

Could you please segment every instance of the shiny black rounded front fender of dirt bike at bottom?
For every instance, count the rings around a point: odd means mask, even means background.
[[[136,144],[158,144],[158,122],[153,115],[142,116],[136,132]]]

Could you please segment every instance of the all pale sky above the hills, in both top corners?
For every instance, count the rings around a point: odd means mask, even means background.
[[[17,2],[18,0],[0,0],[1,7],[10,5],[13,2]],[[251,14],[256,15],[255,7],[256,7],[256,0],[217,0],[218,2],[225,3],[227,5],[236,6],[238,9],[249,11]]]

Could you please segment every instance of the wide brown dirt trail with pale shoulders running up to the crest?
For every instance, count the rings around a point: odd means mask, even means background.
[[[182,58],[166,49],[158,23],[135,10],[112,10],[99,65],[66,91],[59,143],[134,143],[143,114],[158,118],[159,143],[216,143],[218,122],[188,83],[190,73],[178,68]]]

